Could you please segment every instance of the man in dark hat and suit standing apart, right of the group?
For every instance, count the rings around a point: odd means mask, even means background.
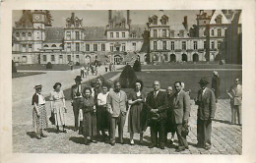
[[[197,113],[197,146],[204,147],[206,150],[211,148],[212,120],[216,112],[216,97],[212,89],[207,87],[206,78],[199,81],[201,89],[198,91],[198,97],[195,100],[198,105]]]

